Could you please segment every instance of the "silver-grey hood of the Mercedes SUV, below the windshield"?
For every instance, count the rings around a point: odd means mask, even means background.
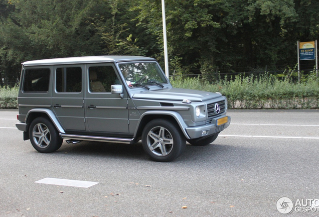
[[[205,101],[220,97],[219,93],[212,93],[200,90],[171,88],[171,89],[158,89],[148,90],[141,93],[134,93],[133,98],[139,99],[159,99],[159,100],[179,100],[189,99],[191,101]]]

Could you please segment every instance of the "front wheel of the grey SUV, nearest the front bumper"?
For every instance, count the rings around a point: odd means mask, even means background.
[[[152,160],[169,162],[175,160],[184,152],[186,139],[175,123],[155,119],[144,127],[142,145],[144,151]]]

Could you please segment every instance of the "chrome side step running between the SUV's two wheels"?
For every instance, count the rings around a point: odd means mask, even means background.
[[[112,143],[126,143],[131,144],[134,140],[127,138],[115,138],[115,137],[102,137],[102,136],[83,136],[73,134],[61,134],[63,139],[66,140],[85,140],[85,141],[96,141],[96,142],[112,142]]]

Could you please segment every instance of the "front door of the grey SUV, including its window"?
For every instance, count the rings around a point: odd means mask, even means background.
[[[86,67],[86,122],[90,132],[128,133],[127,93],[111,93],[111,85],[122,84],[113,64]],[[123,84],[122,84],[123,85]]]

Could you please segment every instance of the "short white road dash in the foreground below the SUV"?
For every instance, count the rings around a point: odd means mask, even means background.
[[[63,185],[63,186],[71,186],[71,187],[84,187],[84,188],[88,188],[98,184],[98,182],[78,181],[78,180],[58,179],[58,178],[44,178],[39,181],[36,181],[35,183]]]

